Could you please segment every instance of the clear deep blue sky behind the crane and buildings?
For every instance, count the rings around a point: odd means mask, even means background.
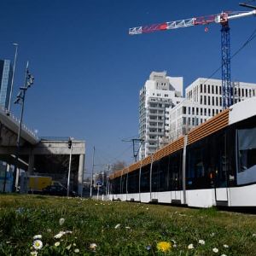
[[[138,94],[151,71],[183,76],[184,86],[220,66],[220,26],[180,28],[129,36],[133,26],[181,20],[223,10],[247,10],[238,0],[2,0],[0,58],[13,59],[20,44],[15,95],[26,60],[35,85],[27,91],[24,121],[38,136],[86,141],[86,168],[132,161]],[[256,3],[253,2],[255,5]],[[230,21],[231,53],[256,28],[254,17]],[[231,63],[232,79],[256,83],[256,40]],[[214,78],[220,79],[221,73]],[[14,106],[16,115],[20,109]]]

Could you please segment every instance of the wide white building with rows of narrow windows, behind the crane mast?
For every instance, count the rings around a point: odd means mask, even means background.
[[[234,103],[256,96],[256,84],[233,84]],[[185,96],[175,108],[167,110],[170,114],[170,141],[223,110],[222,81],[219,79],[196,79],[186,88]]]

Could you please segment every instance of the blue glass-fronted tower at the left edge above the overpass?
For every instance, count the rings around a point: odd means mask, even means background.
[[[0,106],[8,108],[13,69],[9,60],[0,60]]]

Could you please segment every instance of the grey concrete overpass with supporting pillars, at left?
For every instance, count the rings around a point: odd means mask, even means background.
[[[0,108],[0,160],[15,164],[16,142],[20,121],[5,109]],[[22,125],[18,168],[28,175],[49,175],[65,183],[68,172],[70,149],[68,137],[39,138]],[[84,173],[84,141],[73,140],[71,188],[82,194]]]

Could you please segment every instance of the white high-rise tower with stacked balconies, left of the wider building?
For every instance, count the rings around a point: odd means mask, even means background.
[[[139,158],[153,154],[170,133],[169,112],[183,100],[183,78],[171,78],[166,72],[152,72],[140,90],[139,138],[143,140]]]

